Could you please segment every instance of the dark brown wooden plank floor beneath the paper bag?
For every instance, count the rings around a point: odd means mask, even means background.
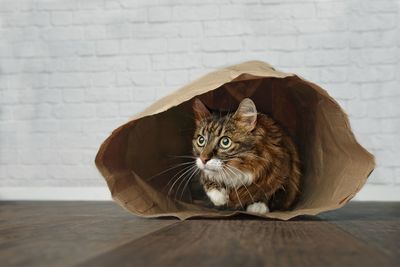
[[[0,266],[400,266],[400,203],[288,222],[141,219],[112,202],[0,202]]]

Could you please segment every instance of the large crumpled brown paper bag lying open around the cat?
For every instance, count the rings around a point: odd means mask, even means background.
[[[166,188],[191,154],[192,100],[216,110],[234,110],[250,97],[259,112],[278,121],[293,137],[303,163],[301,197],[291,211],[261,217],[287,220],[342,207],[374,169],[374,157],[359,145],[347,115],[318,85],[270,65],[251,61],[211,72],[160,99],[113,131],[96,156],[112,197],[144,217],[226,217],[244,211],[217,210],[196,201],[196,192]],[[175,176],[176,179],[176,176]],[[189,188],[189,187],[187,187]]]

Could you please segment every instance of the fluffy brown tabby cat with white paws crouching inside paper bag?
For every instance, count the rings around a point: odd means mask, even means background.
[[[300,160],[292,139],[245,98],[233,114],[193,101],[195,164],[216,207],[267,213],[289,210],[300,193]]]

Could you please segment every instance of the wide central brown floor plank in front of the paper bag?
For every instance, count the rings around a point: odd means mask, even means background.
[[[190,220],[80,266],[395,266],[323,221]]]

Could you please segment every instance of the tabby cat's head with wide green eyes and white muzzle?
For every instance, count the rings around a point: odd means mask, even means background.
[[[193,153],[197,167],[206,177],[235,175],[249,176],[248,163],[256,157],[257,109],[254,102],[245,98],[234,113],[221,116],[211,113],[199,100],[193,102],[196,131]],[[247,167],[247,168],[246,168]],[[235,173],[235,175],[233,175]],[[223,181],[220,181],[223,182]]]

